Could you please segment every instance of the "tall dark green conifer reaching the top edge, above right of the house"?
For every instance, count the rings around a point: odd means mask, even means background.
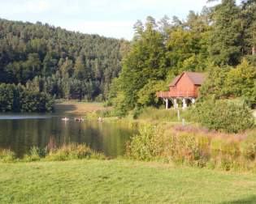
[[[213,8],[210,56],[216,65],[236,66],[241,59],[241,16],[234,0],[223,0]]]

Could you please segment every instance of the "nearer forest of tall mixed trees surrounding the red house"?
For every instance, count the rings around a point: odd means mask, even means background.
[[[209,1],[211,2],[211,1]],[[130,52],[109,93],[115,114],[163,104],[155,96],[184,70],[206,72],[202,98],[256,104],[256,2],[222,0],[186,20],[151,16],[134,25]]]

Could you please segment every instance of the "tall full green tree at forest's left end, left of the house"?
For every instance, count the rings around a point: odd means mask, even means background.
[[[139,91],[150,80],[164,79],[167,73],[163,36],[154,27],[154,19],[150,17],[145,23],[145,30],[137,25],[137,36],[132,49],[123,60],[119,87],[115,92],[125,99],[128,108],[135,107]]]

